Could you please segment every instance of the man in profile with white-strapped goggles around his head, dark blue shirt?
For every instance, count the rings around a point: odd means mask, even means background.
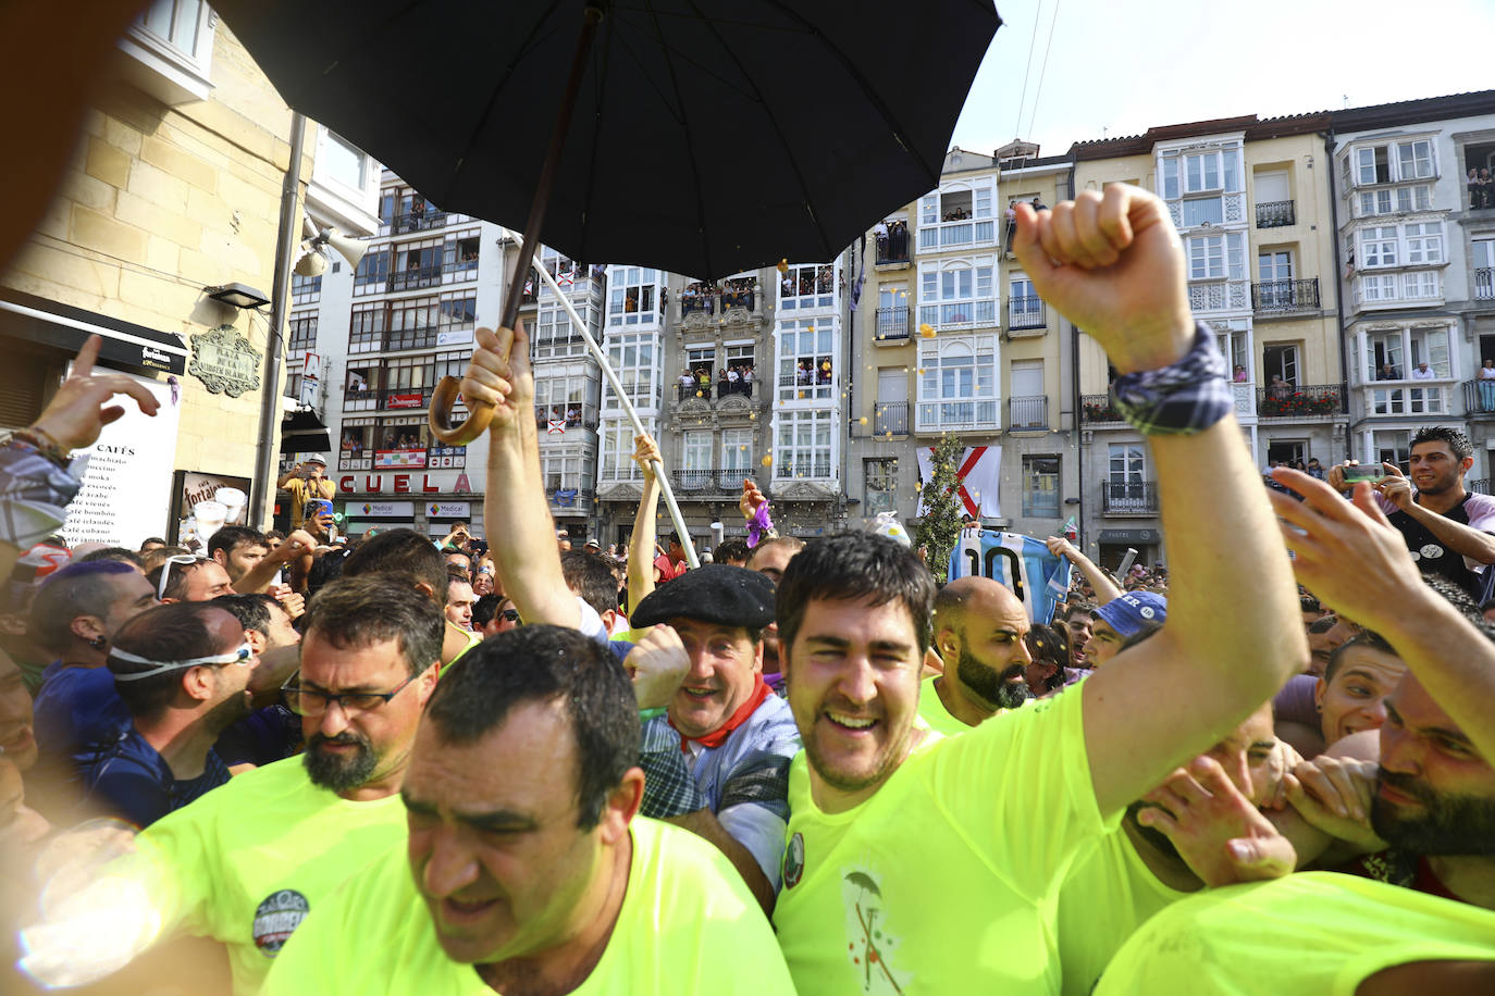
[[[248,715],[254,650],[221,608],[160,605],[124,624],[109,651],[130,729],[88,769],[85,803],[148,827],[227,784],[218,735]]]

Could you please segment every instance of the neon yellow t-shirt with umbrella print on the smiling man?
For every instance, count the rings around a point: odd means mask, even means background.
[[[801,993],[1054,993],[1058,885],[1117,826],[1096,808],[1082,696],[922,744],[839,814],[789,768],[773,921]]]

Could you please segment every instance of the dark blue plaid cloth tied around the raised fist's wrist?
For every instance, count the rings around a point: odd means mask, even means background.
[[[1148,436],[1203,432],[1235,411],[1224,357],[1203,323],[1195,324],[1195,342],[1178,363],[1118,376],[1111,397],[1121,417]]]

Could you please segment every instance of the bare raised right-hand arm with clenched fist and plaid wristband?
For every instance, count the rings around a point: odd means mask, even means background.
[[[1163,203],[1111,185],[1046,214],[1024,205],[1014,249],[1039,294],[1094,336],[1118,373],[1142,375],[1117,393],[1148,435],[1172,551],[1163,632],[1117,657],[1135,666],[1102,669],[1082,687],[1090,776],[1109,814],[1302,670],[1308,645],[1260,475],[1227,399],[1212,396],[1223,394],[1223,361],[1189,314],[1183,246]],[[1199,500],[1197,481],[1212,484],[1214,500]],[[1232,524],[1229,547],[1212,542],[1220,523]]]

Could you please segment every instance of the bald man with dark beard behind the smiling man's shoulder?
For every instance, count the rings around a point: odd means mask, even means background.
[[[919,717],[931,730],[951,736],[1032,697],[1027,632],[1023,602],[991,578],[958,578],[940,590],[933,650],[945,667],[919,690]]]

